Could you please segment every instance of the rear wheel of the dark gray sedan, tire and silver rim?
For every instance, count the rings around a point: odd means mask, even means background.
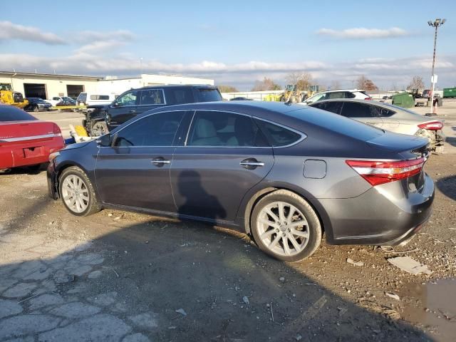
[[[310,257],[321,242],[321,224],[309,202],[288,190],[264,196],[252,212],[251,232],[259,248],[282,261]]]

